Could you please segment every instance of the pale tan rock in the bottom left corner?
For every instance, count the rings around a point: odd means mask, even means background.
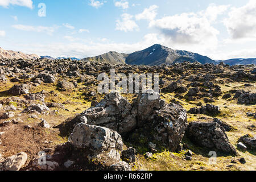
[[[19,171],[20,168],[26,164],[27,154],[24,152],[20,152],[19,154],[10,156],[4,162],[4,168],[7,171]]]

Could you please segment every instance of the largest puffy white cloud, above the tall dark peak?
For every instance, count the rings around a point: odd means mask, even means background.
[[[217,35],[220,32],[212,23],[227,9],[228,6],[210,4],[206,10],[197,13],[182,13],[151,20],[150,27],[158,29],[160,35],[166,38],[166,43],[172,47],[205,52],[217,48]]]

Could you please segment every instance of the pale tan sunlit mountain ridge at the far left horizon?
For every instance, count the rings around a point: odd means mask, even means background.
[[[0,47],[0,59],[38,59],[40,56],[31,54],[28,55],[23,52],[15,52],[15,51],[6,51],[5,49]]]

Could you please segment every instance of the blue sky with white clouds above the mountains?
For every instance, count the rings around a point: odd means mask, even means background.
[[[0,47],[39,56],[132,53],[153,44],[256,57],[255,0],[0,0]]]

